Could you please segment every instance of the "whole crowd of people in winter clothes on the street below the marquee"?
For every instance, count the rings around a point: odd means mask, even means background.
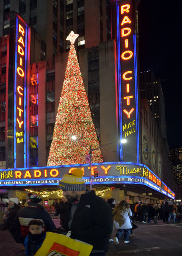
[[[116,205],[114,198],[105,201],[96,196],[94,190],[86,189],[81,169],[65,174],[59,181],[59,188],[63,191],[63,198],[53,206],[55,218],[60,218],[60,228],[55,227],[39,196],[29,193],[25,207],[19,205],[17,197],[9,199],[0,230],[9,230],[14,240],[22,244],[26,255],[36,253],[44,242],[46,232],[57,232],[91,244],[91,256],[104,256],[109,242],[119,244],[122,236],[124,243],[129,242],[136,222],[146,224],[153,221],[157,224],[159,219],[167,223],[181,220],[181,203],[128,204],[121,200]],[[4,207],[3,202],[0,206],[2,204]],[[113,229],[117,229],[114,239],[111,238]]]

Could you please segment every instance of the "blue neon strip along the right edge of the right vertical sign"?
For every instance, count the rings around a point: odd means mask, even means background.
[[[140,147],[139,147],[139,114],[138,114],[138,81],[137,81],[137,45],[136,35],[133,35],[134,45],[134,67],[135,67],[135,104],[136,104],[136,129],[137,129],[137,162],[140,161]]]

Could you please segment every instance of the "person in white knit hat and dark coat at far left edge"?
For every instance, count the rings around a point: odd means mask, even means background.
[[[22,207],[18,205],[18,202],[19,200],[17,197],[12,197],[9,199],[8,209],[2,217],[2,221],[0,223],[0,230],[3,231],[8,229],[12,235],[14,230],[14,218],[16,213],[22,209]]]

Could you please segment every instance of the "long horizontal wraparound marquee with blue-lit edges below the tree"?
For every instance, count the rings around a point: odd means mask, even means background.
[[[84,172],[83,179],[89,184],[89,164],[69,165],[69,166],[45,166],[36,168],[18,168],[0,170],[1,186],[25,186],[25,185],[57,185],[64,174],[71,172],[75,168],[81,168]],[[98,171],[98,177],[93,178],[94,184],[141,184],[148,186],[162,194],[166,186],[150,169],[143,164],[111,162],[98,163],[92,166],[92,176],[94,170]],[[167,190],[170,188],[166,187]],[[175,194],[167,191],[170,198]]]

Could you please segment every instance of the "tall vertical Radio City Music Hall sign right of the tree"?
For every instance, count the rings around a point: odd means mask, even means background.
[[[111,10],[112,37],[117,42],[119,138],[127,140],[120,148],[120,158],[125,162],[140,162],[134,1],[113,0]]]

